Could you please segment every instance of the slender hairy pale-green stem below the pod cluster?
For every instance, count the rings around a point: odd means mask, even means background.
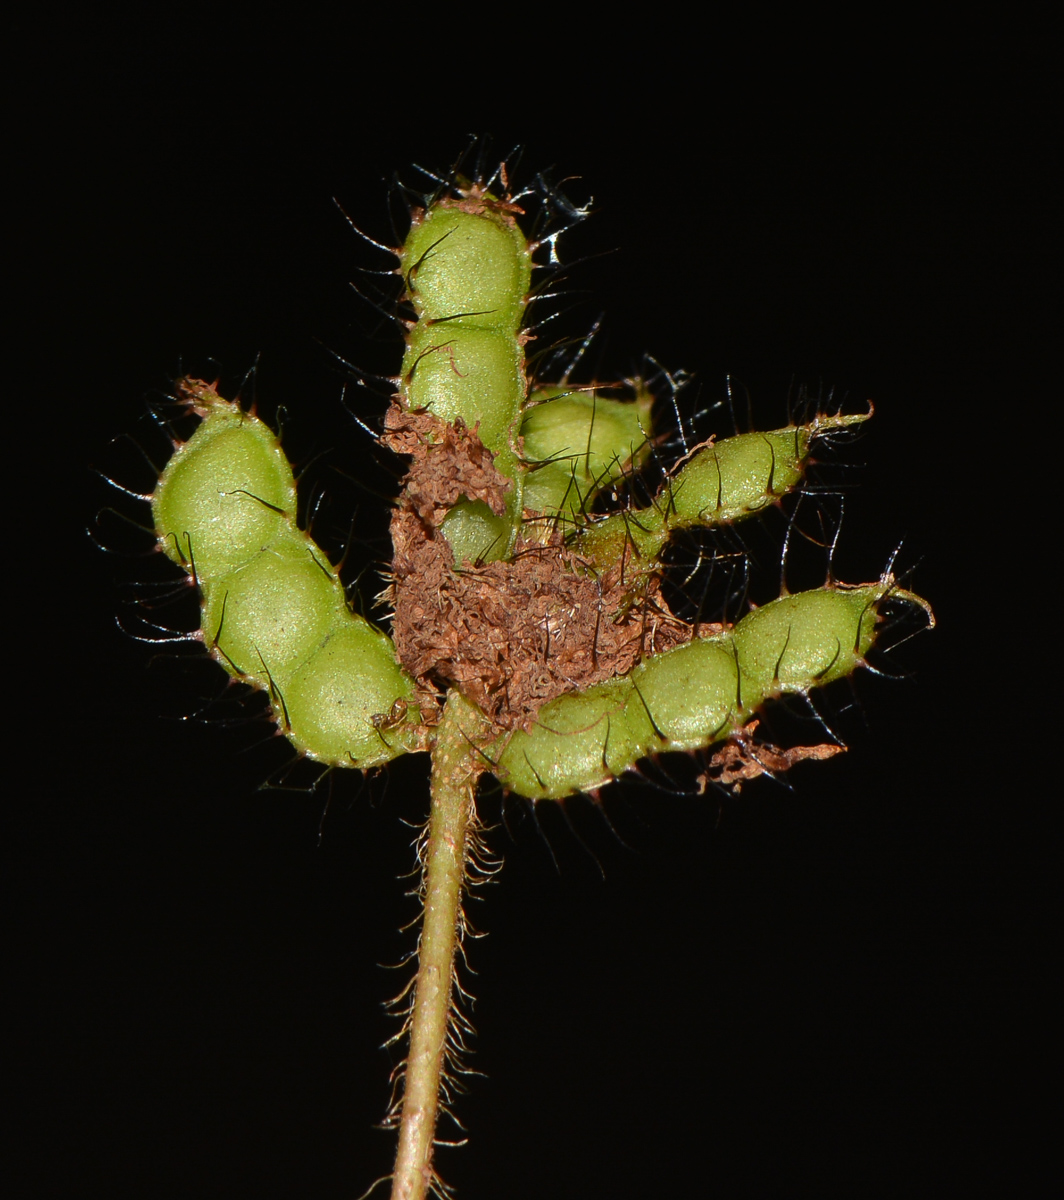
[[[432,751],[432,809],[422,847],[425,912],[410,1012],[399,1145],[392,1200],[423,1200],[432,1188],[432,1152],[462,936],[462,890],[475,823],[476,780],[487,766],[474,748],[483,718],[451,691]]]

